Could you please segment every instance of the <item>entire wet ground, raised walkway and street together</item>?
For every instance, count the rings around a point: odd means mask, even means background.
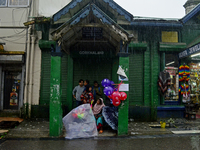
[[[167,120],[167,119],[166,119]],[[117,132],[106,128],[103,134],[88,139],[66,140],[65,129],[60,137],[49,137],[49,121],[46,119],[24,120],[10,129],[0,140],[2,150],[200,150],[200,133],[173,134],[172,131],[200,130],[200,119],[173,119],[174,127],[159,127],[157,122],[129,122],[129,135],[117,136]],[[156,125],[156,128],[152,128]]]

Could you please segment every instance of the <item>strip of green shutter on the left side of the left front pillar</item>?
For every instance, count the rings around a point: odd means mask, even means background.
[[[42,51],[40,105],[48,105],[50,100],[51,52]]]

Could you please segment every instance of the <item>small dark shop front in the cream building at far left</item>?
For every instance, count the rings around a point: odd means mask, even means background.
[[[0,53],[0,110],[20,110],[23,106],[25,72],[23,52],[21,52],[21,55]]]

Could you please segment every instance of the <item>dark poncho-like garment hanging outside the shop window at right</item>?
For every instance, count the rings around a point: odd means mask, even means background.
[[[168,87],[170,86],[171,78],[169,72],[162,71],[159,73],[158,77],[158,87],[159,91],[161,92],[162,95],[165,95],[167,92]]]

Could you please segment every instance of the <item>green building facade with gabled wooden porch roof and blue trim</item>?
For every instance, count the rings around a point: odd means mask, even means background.
[[[43,34],[39,43],[42,70],[40,104],[32,106],[32,117],[49,117],[52,51],[61,58],[63,115],[75,107],[72,90],[79,79],[92,84],[108,78],[117,83],[116,72],[122,63],[129,69],[128,118],[183,117],[181,100],[166,103],[159,93],[158,75],[168,57],[180,65],[183,60],[178,54],[200,42],[199,7],[182,19],[163,19],[135,17],[112,0],[72,0],[51,21],[37,23]],[[128,61],[123,63],[125,58]]]

